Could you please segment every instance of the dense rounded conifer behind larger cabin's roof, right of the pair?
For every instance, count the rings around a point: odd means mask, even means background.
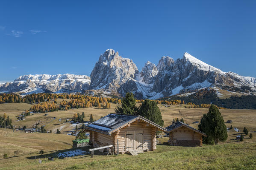
[[[154,100],[145,99],[141,103],[138,114],[160,126],[164,125],[164,121],[162,120],[162,114],[159,110],[159,107],[157,106],[156,101]]]

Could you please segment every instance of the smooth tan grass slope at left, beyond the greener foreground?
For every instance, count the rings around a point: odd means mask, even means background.
[[[3,154],[18,156],[38,152],[38,150],[59,150],[72,147],[75,136],[51,133],[12,132],[10,129],[0,128],[0,158]]]

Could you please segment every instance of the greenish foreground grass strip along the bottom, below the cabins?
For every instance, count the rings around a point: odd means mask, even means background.
[[[0,170],[255,170],[256,143],[222,144],[204,147],[174,147],[157,145],[156,151],[118,156],[89,154],[48,161],[56,151],[31,153],[25,156],[1,159]],[[37,161],[35,160],[35,156]],[[41,158],[42,164],[38,164]]]

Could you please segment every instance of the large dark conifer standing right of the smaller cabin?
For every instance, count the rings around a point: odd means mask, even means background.
[[[211,105],[208,113],[203,114],[198,130],[206,133],[207,138],[214,140],[215,144],[218,144],[219,141],[226,141],[228,137],[223,116],[215,105]]]

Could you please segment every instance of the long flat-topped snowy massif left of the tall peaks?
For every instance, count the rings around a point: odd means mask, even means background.
[[[18,77],[14,82],[0,85],[0,91],[20,92],[21,94],[41,93],[45,90],[56,92],[86,90],[90,77],[75,74],[36,74]]]

